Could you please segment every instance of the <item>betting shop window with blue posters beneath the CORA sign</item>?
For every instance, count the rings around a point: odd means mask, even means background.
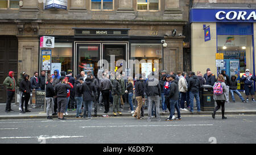
[[[224,53],[224,68],[231,78],[236,76],[238,88],[243,90],[241,74],[249,68],[253,73],[253,43],[251,35],[217,35],[217,52]],[[219,70],[219,72],[220,72]]]

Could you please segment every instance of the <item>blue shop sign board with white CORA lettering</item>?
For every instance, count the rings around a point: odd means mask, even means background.
[[[190,22],[249,22],[256,21],[254,9],[191,9]]]

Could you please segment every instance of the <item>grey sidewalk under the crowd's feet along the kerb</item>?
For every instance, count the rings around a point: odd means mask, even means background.
[[[19,107],[15,105],[14,103],[11,104],[11,108],[14,110],[14,112],[8,112],[5,113],[5,103],[0,103],[0,119],[28,119],[28,118],[46,118],[46,113],[44,113],[44,107],[36,107],[32,108],[31,112],[26,112],[25,114],[19,113]],[[189,111],[181,111],[181,117],[182,115],[211,115],[212,111],[201,111],[197,112],[196,110],[196,103],[194,103],[194,112],[193,114]],[[94,107],[93,107],[94,108]],[[103,105],[98,106],[98,112],[97,117],[102,117],[102,115],[108,115],[109,117],[117,117],[117,116],[131,116],[129,111],[129,104],[125,104],[125,108],[121,108],[122,115],[114,116],[112,112],[112,107],[110,106],[110,112],[108,114],[104,113],[105,108]],[[144,118],[147,116],[147,108],[144,108]],[[69,115],[66,115],[66,118],[75,118],[76,111],[68,111]],[[175,114],[177,114],[175,110]],[[217,115],[221,114],[221,110],[217,111]],[[225,103],[225,114],[231,115],[231,114],[256,114],[256,102],[249,102],[249,103],[242,103],[242,102],[230,102]],[[50,113],[51,115],[51,113]],[[169,115],[169,112],[166,112],[165,114],[162,113],[162,108],[160,108],[160,116],[162,118],[167,118]],[[94,117],[94,109],[92,110],[92,116]],[[53,116],[53,118],[57,118],[57,116]]]

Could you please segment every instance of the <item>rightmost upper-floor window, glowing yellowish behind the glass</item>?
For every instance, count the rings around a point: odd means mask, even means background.
[[[159,0],[137,0],[137,10],[159,10]]]

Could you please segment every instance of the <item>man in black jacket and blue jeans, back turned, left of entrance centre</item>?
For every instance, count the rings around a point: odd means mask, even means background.
[[[93,84],[93,75],[88,74],[85,82],[82,83],[80,87],[81,93],[83,93],[84,100],[84,119],[88,115],[88,120],[92,118],[92,104],[94,100],[94,95],[97,95],[96,86]]]

